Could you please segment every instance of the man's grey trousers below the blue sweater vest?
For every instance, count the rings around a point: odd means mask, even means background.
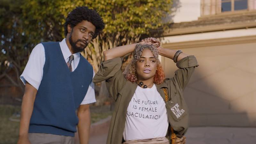
[[[75,144],[75,138],[47,133],[28,133],[31,144]]]

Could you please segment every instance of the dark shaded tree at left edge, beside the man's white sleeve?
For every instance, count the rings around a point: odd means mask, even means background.
[[[19,76],[28,60],[31,46],[28,46],[22,30],[21,4],[22,1],[0,1],[0,80],[6,78],[10,82],[0,84],[0,87],[19,87],[24,92]]]

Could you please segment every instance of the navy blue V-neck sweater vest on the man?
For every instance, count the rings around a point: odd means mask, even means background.
[[[70,72],[59,42],[42,43],[45,51],[43,78],[36,93],[29,133],[74,136],[81,104],[92,82],[93,69],[80,55],[77,68]]]

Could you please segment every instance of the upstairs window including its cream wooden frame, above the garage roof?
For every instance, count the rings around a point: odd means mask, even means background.
[[[201,15],[256,10],[256,0],[201,0]]]

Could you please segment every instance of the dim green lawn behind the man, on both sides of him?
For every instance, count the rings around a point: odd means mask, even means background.
[[[108,106],[93,107],[91,109],[91,123],[95,123],[112,114]],[[10,121],[10,118],[19,119],[13,116],[20,112],[20,106],[0,105],[0,144],[16,144],[19,137],[20,122]]]

